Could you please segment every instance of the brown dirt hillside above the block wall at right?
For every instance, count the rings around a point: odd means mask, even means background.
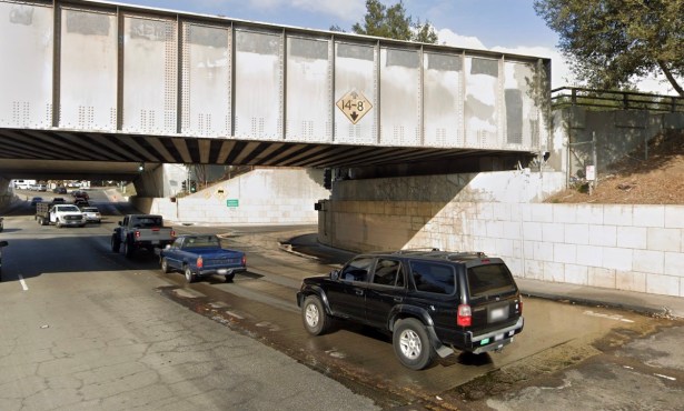
[[[566,203],[684,204],[684,132],[666,133],[598,176],[589,196],[582,182],[546,200]]]

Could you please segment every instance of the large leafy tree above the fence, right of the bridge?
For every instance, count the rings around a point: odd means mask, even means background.
[[[684,0],[535,0],[577,79],[617,89],[661,72],[684,97]]]

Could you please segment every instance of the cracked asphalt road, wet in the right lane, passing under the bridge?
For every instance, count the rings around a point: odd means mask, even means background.
[[[373,330],[339,323],[328,335],[305,333],[299,282],[340,261],[286,253],[279,242],[315,228],[178,228],[226,234],[250,267],[234,283],[187,285],[179,273],[161,274],[152,255],[112,254],[119,206],[102,204],[108,221],[83,230],[41,228],[21,210],[7,220],[2,410],[295,409],[309,397],[306,408],[323,409],[324,388],[333,395],[325,409],[682,409],[676,321],[526,299],[525,331],[502,353],[410,371]]]

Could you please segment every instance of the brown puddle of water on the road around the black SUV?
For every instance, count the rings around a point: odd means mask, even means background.
[[[172,289],[177,288],[168,288],[163,293],[387,408],[409,403],[430,409],[459,407],[515,390],[537,378],[544,379],[545,385],[557,387],[562,381],[554,377],[556,372],[671,323],[623,310],[525,298],[525,329],[502,353],[457,353],[416,372],[398,364],[390,340],[367,329],[341,327],[330,334],[311,338],[304,332],[296,313],[286,314],[268,304],[209,287],[206,291],[214,293],[205,298],[184,297]],[[266,320],[275,318],[278,320]]]

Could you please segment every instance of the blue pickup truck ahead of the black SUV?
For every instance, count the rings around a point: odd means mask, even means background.
[[[231,282],[237,272],[247,271],[245,253],[221,248],[216,235],[180,235],[159,251],[161,271],[180,271],[187,282],[208,275],[224,275]]]

